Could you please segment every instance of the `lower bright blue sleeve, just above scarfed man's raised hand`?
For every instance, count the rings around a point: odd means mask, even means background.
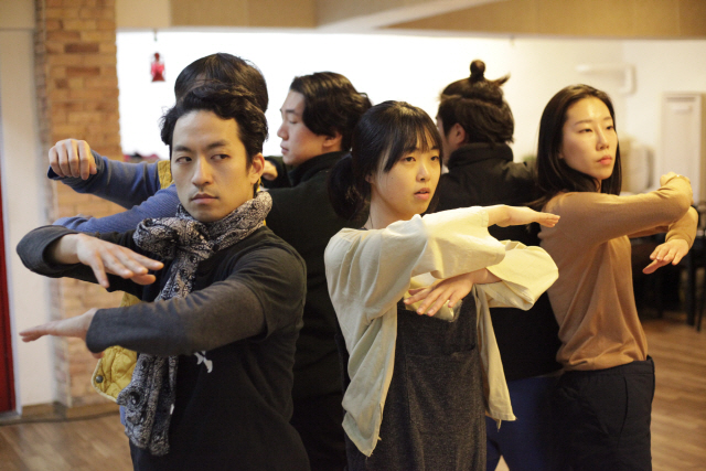
[[[139,205],[106,217],[75,216],[62,217],[54,225],[67,227],[82,233],[122,233],[131,231],[148,217],[171,217],[176,214],[179,195],[173,184],[158,191]]]

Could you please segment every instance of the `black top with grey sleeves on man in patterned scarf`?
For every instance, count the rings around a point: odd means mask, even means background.
[[[40,227],[18,246],[31,270],[96,282],[89,267],[54,265],[49,245],[74,234]],[[103,239],[135,251],[132,233]],[[110,290],[152,301],[168,274],[142,287],[109,276]],[[86,344],[93,352],[121,345],[179,355],[170,452],[154,457],[131,446],[136,470],[307,470],[308,458],[291,417],[295,345],[301,327],[303,260],[268,228],[199,264],[185,298],[96,312]]]

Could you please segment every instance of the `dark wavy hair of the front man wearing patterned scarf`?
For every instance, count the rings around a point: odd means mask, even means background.
[[[257,104],[257,96],[243,86],[207,83],[188,92],[162,117],[162,141],[169,146],[170,159],[174,126],[179,118],[192,111],[212,111],[222,119],[235,119],[238,138],[247,153],[248,168],[253,158],[263,151],[263,142],[267,139],[267,120]]]

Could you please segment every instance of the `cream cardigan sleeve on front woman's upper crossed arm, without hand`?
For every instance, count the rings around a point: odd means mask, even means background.
[[[416,275],[450,278],[503,257],[482,207],[415,216],[385,229],[343,229],[324,254],[331,300],[342,328],[355,331],[393,310]]]

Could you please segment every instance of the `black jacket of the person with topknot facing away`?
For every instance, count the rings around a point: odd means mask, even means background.
[[[437,211],[494,204],[524,206],[534,199],[532,168],[513,162],[506,144],[462,146],[449,157],[448,168],[439,181]],[[492,226],[489,232],[499,240],[539,245],[536,235],[524,226]],[[559,370],[558,324],[546,293],[530,311],[493,308],[491,318],[507,381]]]

